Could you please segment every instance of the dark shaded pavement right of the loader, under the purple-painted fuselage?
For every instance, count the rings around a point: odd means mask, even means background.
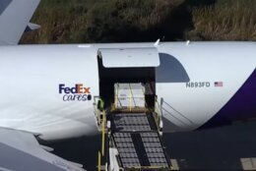
[[[182,170],[256,170],[256,123],[165,135],[163,141]]]

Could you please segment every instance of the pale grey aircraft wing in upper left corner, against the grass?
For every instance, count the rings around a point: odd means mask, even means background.
[[[0,0],[0,45],[18,44],[40,0]]]

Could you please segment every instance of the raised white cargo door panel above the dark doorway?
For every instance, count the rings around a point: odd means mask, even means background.
[[[146,48],[99,48],[105,68],[135,68],[160,66],[159,51],[156,47]]]

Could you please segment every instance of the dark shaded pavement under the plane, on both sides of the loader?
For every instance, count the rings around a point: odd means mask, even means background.
[[[256,122],[165,134],[163,141],[175,168],[181,170],[256,170]],[[94,170],[99,143],[96,136],[51,144],[57,154]]]

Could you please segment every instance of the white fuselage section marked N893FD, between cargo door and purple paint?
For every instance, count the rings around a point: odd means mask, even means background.
[[[191,131],[215,116],[255,70],[255,47],[254,42],[191,42],[189,46],[176,42],[160,46],[161,66],[156,74],[157,94],[163,99],[163,131]],[[183,77],[182,72],[188,74],[190,83],[210,86],[187,87],[175,78]],[[166,77],[171,79],[164,82]],[[224,86],[216,87],[215,82]]]

